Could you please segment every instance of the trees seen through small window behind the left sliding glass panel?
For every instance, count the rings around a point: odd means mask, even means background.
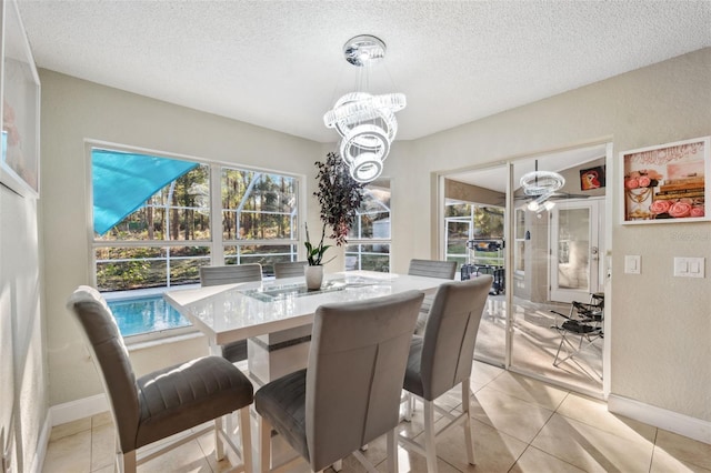
[[[445,207],[447,260],[503,265],[503,208],[448,200]],[[473,248],[467,242],[473,240]]]

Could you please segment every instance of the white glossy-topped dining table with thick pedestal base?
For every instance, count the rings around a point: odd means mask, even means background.
[[[306,366],[316,310],[409,290],[432,294],[445,280],[371,271],[324,275],[320,290],[303,276],[174,290],[166,300],[208,338],[211,353],[248,339],[248,366],[259,383]]]

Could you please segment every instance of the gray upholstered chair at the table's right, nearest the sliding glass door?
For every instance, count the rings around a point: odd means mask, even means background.
[[[493,276],[485,274],[468,281],[442,283],[434,295],[424,335],[412,338],[403,388],[424,404],[424,445],[404,436],[399,440],[403,446],[427,457],[429,473],[437,473],[434,410],[450,421],[439,433],[464,423],[467,457],[474,464],[469,382],[479,322],[492,281]],[[461,384],[462,390],[462,413],[454,416],[434,405],[434,400],[457,384]],[[408,409],[411,405],[408,402]]]

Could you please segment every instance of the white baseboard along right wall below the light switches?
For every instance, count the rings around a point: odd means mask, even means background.
[[[689,439],[711,444],[711,422],[610,394],[608,410]]]

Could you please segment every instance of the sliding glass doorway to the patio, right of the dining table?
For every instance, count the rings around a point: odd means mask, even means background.
[[[611,162],[611,145],[601,143],[443,175],[442,209],[455,189],[459,202],[481,204],[482,195],[488,195],[490,204],[495,201],[505,210],[505,291],[489,296],[474,359],[602,396],[603,340],[591,346],[588,360],[554,366],[561,336],[553,329],[557,315],[552,311],[569,313],[572,301],[588,301],[591,293],[604,290],[601,256],[605,254],[607,162]],[[582,188],[582,177],[591,169],[601,185],[590,190]],[[521,175],[533,170],[564,177],[564,187],[551,194],[545,205],[531,204],[534,199],[519,189]],[[465,197],[462,189],[467,187],[471,187],[475,199]],[[475,222],[458,224],[467,227],[469,234],[478,231]],[[451,233],[445,230],[444,219],[440,225],[440,234]],[[447,241],[443,243],[442,253],[450,253]],[[479,248],[475,242],[468,246],[474,249],[470,251]],[[474,256],[460,256],[459,261]]]

